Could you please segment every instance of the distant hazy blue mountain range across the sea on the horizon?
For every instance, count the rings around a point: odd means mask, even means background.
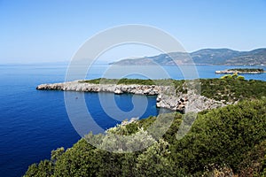
[[[171,58],[169,57],[171,56]],[[266,65],[266,48],[251,51],[203,49],[191,53],[172,52],[153,57],[121,59],[110,65],[189,65],[190,56],[196,65]]]

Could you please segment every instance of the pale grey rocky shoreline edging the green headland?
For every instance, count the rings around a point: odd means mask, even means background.
[[[116,85],[116,84],[91,84],[82,81],[70,81],[53,84],[41,84],[39,90],[62,90],[80,92],[111,92],[114,94],[137,94],[157,96],[156,106],[177,112],[200,112],[203,110],[223,107],[226,104],[214,99],[195,94],[193,90],[188,93],[176,93],[176,89],[170,86],[157,85]]]

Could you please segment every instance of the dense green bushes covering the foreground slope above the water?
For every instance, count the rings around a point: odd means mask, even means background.
[[[51,160],[30,165],[25,176],[266,174],[265,98],[200,112],[191,131],[177,140],[176,132],[184,116],[177,113],[167,133],[145,150],[111,153],[82,139],[65,152],[53,150]],[[145,131],[155,119],[138,120],[112,131],[120,135]]]

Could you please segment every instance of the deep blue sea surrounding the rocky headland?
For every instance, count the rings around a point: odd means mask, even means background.
[[[94,65],[87,79],[101,77],[108,66]],[[239,66],[199,65],[197,70],[200,78],[217,78],[221,75],[215,74],[216,70],[232,67]],[[266,70],[265,67],[260,68]],[[51,150],[71,147],[81,138],[68,119],[64,92],[35,89],[42,83],[65,81],[66,69],[66,64],[0,65],[0,176],[21,176],[28,165],[50,158]],[[165,66],[165,70],[170,78],[184,79],[176,67]],[[246,79],[266,81],[266,73],[244,76]],[[145,78],[139,74],[128,77]],[[113,96],[111,93],[101,94],[104,98]],[[110,118],[101,107],[97,93],[85,93],[84,96],[87,104],[93,103],[90,113],[103,129],[127,119]],[[114,96],[114,99],[124,112],[134,107],[132,95]],[[155,96],[147,96],[147,103],[143,115],[132,117],[142,119],[159,113],[160,110],[155,107]]]

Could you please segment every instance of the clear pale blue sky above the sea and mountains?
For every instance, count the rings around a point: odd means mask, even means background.
[[[92,35],[125,24],[159,27],[188,51],[253,50],[266,47],[266,0],[0,0],[0,24],[0,63],[68,61]]]

